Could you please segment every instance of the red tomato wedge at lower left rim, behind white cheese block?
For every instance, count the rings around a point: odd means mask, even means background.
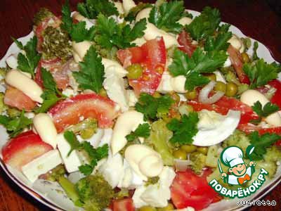
[[[2,155],[6,164],[21,170],[23,165],[52,149],[53,147],[42,141],[39,135],[29,131],[8,141],[2,148]]]

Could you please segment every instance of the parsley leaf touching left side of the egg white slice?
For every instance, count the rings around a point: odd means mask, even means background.
[[[171,122],[166,124],[166,127],[171,130],[171,132],[174,132],[169,141],[176,146],[192,143],[192,137],[198,132],[198,121],[198,114],[195,112],[190,113],[188,116],[183,115],[181,120],[172,119]]]

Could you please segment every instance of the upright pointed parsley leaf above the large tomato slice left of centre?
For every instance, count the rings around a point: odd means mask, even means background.
[[[105,68],[101,63],[101,57],[96,53],[93,46],[87,51],[84,62],[79,63],[81,70],[73,72],[73,76],[79,83],[81,89],[91,89],[96,93],[103,88],[103,80],[105,79]]]

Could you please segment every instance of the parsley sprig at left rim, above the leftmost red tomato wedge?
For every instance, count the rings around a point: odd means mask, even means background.
[[[32,120],[25,117],[25,110],[22,110],[20,117],[11,118],[6,115],[0,115],[0,124],[6,127],[9,136],[13,138],[29,127]]]

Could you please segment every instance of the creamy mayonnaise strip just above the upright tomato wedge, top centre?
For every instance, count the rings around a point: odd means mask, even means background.
[[[176,37],[174,37],[171,34],[168,34],[167,32],[165,32],[163,30],[159,30],[152,23],[147,23],[146,29],[144,32],[145,32],[144,38],[146,40],[155,39],[157,37],[163,37],[166,49],[169,49],[171,46],[174,46],[174,45],[178,46],[178,41],[176,40]]]

